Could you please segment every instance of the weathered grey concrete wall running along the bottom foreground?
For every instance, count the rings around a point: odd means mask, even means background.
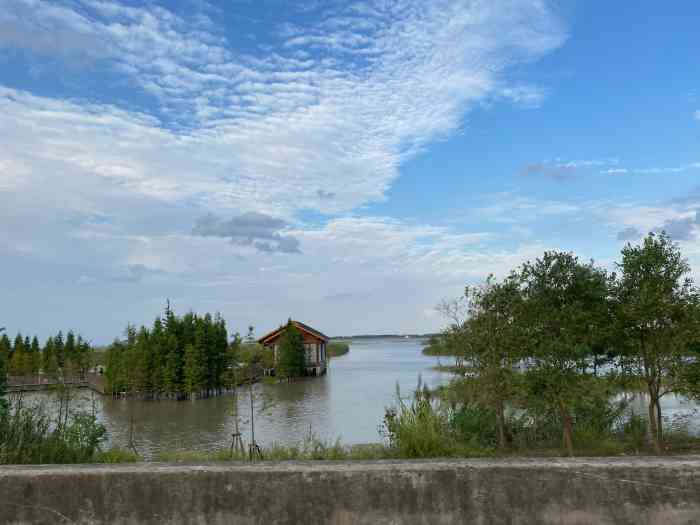
[[[699,524],[700,457],[0,466],[0,523]]]

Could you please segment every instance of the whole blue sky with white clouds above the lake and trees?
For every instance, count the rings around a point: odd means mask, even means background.
[[[7,0],[0,326],[421,333],[545,250],[700,274],[700,4]]]

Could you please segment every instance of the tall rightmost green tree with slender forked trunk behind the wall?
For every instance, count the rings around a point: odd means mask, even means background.
[[[641,245],[627,244],[618,263],[615,315],[623,350],[623,372],[642,382],[649,396],[654,449],[661,453],[661,398],[681,389],[689,346],[697,341],[698,291],[690,266],[665,233],[650,233]]]

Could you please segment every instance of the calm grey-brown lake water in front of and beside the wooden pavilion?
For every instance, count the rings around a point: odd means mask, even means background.
[[[394,402],[397,383],[403,396],[415,390],[419,376],[431,387],[449,379],[432,369],[438,361],[423,356],[422,347],[422,341],[413,339],[353,341],[350,352],[333,358],[323,377],[256,385],[256,441],[265,446],[292,444],[309,432],[346,444],[380,441],[378,427],[385,407]],[[81,391],[81,396],[88,404],[90,394]],[[180,402],[94,398],[115,445],[128,443],[133,413],[136,446],[147,457],[159,450],[211,450],[231,443],[231,396]],[[241,390],[239,406],[241,431],[248,442],[247,388]]]

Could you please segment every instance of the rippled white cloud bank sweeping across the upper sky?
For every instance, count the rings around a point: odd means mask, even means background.
[[[4,16],[22,34],[42,27],[47,35],[73,35],[81,49],[84,39],[99,36],[89,47],[157,96],[161,111],[154,120],[3,90],[3,106],[14,119],[3,133],[37,128],[33,141],[44,160],[61,156],[67,170],[153,197],[194,197],[224,208],[257,202],[276,213],[351,209],[381,199],[400,164],[456,130],[477,101],[541,99],[536,88],[508,87],[502,73],[565,37],[539,1],[508,2],[507,8],[442,0],[360,5],[374,15],[340,13],[304,28],[304,40],[287,39],[288,46],[311,51],[342,42],[364,57],[329,63],[282,51],[240,55],[220,36],[161,7],[18,0]],[[71,39],[28,40],[0,36],[6,46],[77,52],[64,45]],[[17,142],[8,144],[10,154],[21,147]],[[321,199],[319,191],[337,197]]]

